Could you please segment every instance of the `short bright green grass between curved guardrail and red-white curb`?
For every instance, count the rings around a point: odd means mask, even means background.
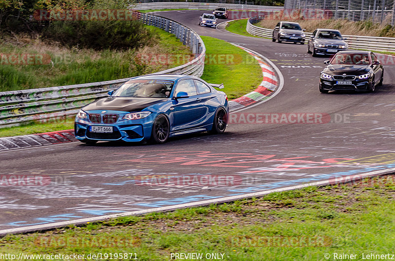
[[[208,83],[223,83],[229,99],[253,91],[262,82],[258,62],[244,50],[209,36],[201,36],[206,46],[204,72],[201,78]]]

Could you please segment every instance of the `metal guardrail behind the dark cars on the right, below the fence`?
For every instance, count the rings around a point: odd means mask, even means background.
[[[254,26],[253,24],[263,20],[265,16],[254,16],[248,19],[246,30],[248,33],[261,37],[273,37],[273,29]],[[306,42],[312,33],[306,34]],[[350,48],[364,49],[370,51],[395,52],[395,38],[391,37],[374,37],[359,35],[343,35],[347,38],[346,42]]]

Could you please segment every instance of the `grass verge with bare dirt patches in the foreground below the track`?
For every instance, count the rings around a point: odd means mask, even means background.
[[[232,203],[7,235],[0,253],[222,253],[224,260],[329,260],[394,252],[394,175]],[[118,254],[119,255],[119,254]],[[134,256],[133,256],[134,257]],[[113,256],[114,258],[114,256]],[[206,259],[203,259],[206,260]]]

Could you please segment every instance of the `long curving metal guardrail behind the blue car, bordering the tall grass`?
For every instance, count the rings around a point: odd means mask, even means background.
[[[187,64],[152,74],[185,74],[201,76],[206,48],[200,36],[173,20],[133,11],[133,16],[146,25],[155,26],[174,34],[190,47],[195,59]],[[131,77],[133,78],[133,77]],[[102,98],[109,90],[117,89],[131,78],[49,87],[21,91],[0,92],[0,128],[19,125],[33,120],[45,120],[77,113],[83,105]]]

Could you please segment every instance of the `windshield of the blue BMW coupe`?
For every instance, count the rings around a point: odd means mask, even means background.
[[[130,80],[113,97],[169,98],[174,82],[169,80]]]

